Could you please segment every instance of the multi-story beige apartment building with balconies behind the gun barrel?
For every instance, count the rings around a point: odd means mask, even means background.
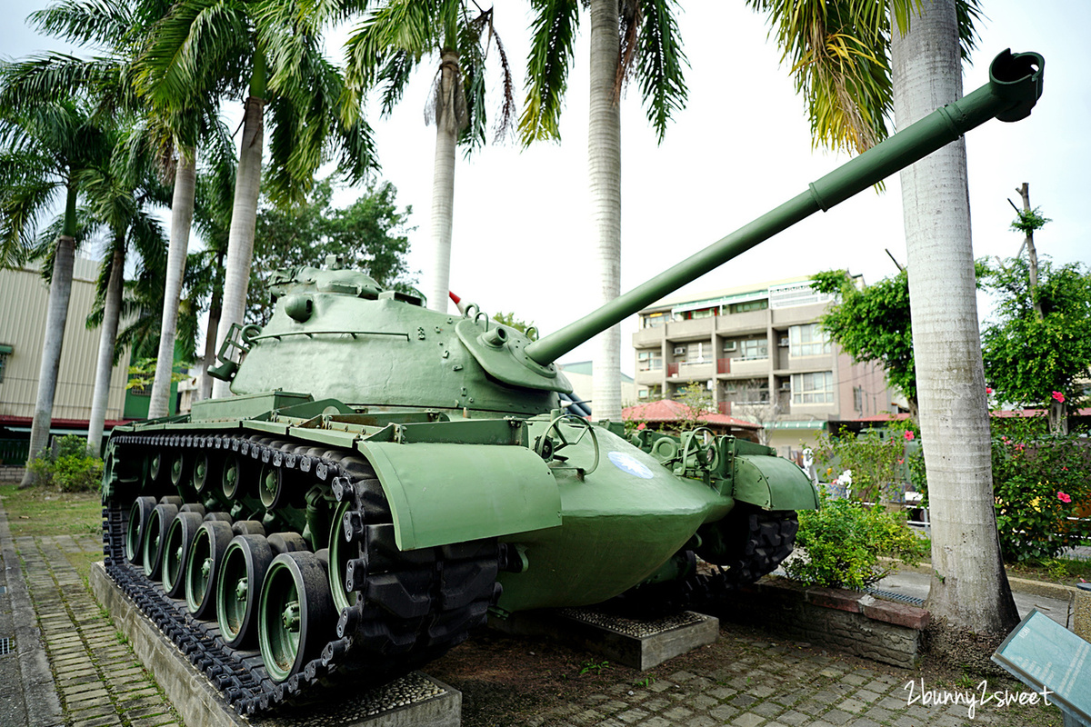
[[[699,383],[722,414],[762,424],[789,455],[827,422],[897,409],[883,368],[858,364],[819,320],[831,298],[793,278],[675,295],[639,312],[639,401]]]

